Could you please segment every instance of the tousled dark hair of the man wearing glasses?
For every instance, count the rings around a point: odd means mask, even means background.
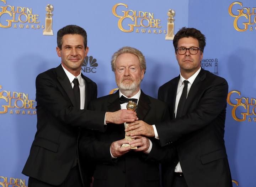
[[[174,40],[173,40],[173,45],[174,45],[174,49],[175,49],[175,53],[176,48],[178,47],[178,40],[180,40],[181,38],[185,38],[185,37],[192,37],[198,40],[199,43],[199,48],[201,49],[201,51],[203,52],[204,47],[206,46],[206,38],[205,36],[197,29],[195,28],[186,28],[186,27],[182,27],[174,36]]]

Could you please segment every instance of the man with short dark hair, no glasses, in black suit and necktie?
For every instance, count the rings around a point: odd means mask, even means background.
[[[106,123],[137,119],[135,112],[87,110],[97,97],[97,85],[81,74],[88,53],[83,28],[69,25],[57,33],[61,65],[36,78],[37,132],[23,174],[30,187],[89,186],[89,176],[80,176],[77,140],[79,127],[103,131]]]

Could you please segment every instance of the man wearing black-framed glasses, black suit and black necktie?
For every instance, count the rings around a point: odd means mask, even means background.
[[[231,187],[224,144],[228,83],[201,68],[206,41],[200,31],[183,27],[173,44],[180,75],[158,91],[169,104],[171,120],[155,127],[135,121],[127,130],[176,146],[175,163],[162,166],[165,187]]]

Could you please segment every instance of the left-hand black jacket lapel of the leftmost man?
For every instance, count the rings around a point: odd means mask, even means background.
[[[73,106],[75,106],[75,96],[74,96],[74,92],[73,92],[73,88],[71,86],[71,83],[68,79],[68,76],[66,76],[66,73],[63,70],[61,65],[56,67],[55,70],[56,70],[57,79],[58,79],[60,85],[63,87],[66,94],[68,94],[68,97],[69,97],[71,103],[73,104]]]

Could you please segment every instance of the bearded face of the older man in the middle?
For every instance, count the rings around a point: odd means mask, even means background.
[[[136,55],[130,53],[119,55],[115,62],[114,73],[117,86],[126,97],[132,97],[139,91],[144,69],[140,68]]]

